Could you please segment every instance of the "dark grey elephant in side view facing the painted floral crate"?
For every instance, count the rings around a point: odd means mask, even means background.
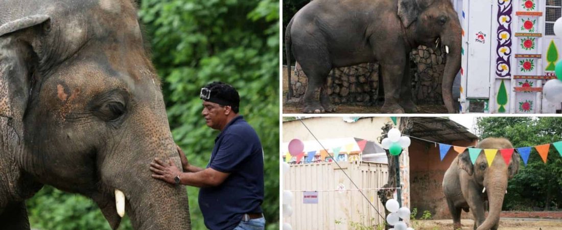
[[[403,113],[418,111],[410,92],[409,53],[420,44],[440,46],[439,39],[447,52],[443,101],[452,113],[452,83],[461,61],[461,26],[450,0],[314,0],[287,25],[285,50],[287,63],[293,52],[308,76],[303,112],[335,111],[327,93],[332,68],[378,61],[384,84],[381,111]]]

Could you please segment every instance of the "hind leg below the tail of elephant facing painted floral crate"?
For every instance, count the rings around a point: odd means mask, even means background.
[[[320,48],[321,49],[321,48]],[[320,105],[320,96],[323,96],[324,101],[329,102],[329,97],[327,90],[327,78],[332,65],[326,55],[322,57],[322,53],[328,53],[328,51],[322,52],[321,50],[303,50],[303,53],[319,53],[319,55],[314,55],[314,57],[306,58],[305,60],[300,60],[299,64],[302,67],[302,71],[305,72],[308,77],[308,85],[305,92],[305,108],[302,112],[305,113],[324,113],[325,108]]]

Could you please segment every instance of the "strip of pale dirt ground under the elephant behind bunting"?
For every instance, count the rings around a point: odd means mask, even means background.
[[[473,229],[474,220],[462,219],[463,229]],[[433,229],[453,229],[453,221],[447,220],[414,220],[410,223],[416,230],[433,230]],[[562,230],[562,219],[522,219],[522,218],[501,218],[501,230]]]

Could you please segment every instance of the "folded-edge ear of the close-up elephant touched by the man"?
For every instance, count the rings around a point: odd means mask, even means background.
[[[37,53],[27,31],[49,20],[34,15],[0,26],[0,116],[22,119],[28,101],[30,78],[37,66]]]

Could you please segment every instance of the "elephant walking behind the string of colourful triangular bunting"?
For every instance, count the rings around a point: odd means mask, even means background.
[[[504,138],[486,138],[478,143],[477,148],[513,148],[511,142]],[[472,164],[468,149],[459,154],[451,163],[443,177],[443,193],[451,212],[454,229],[461,228],[461,209],[474,215],[474,229],[497,229],[500,224],[501,206],[507,193],[507,180],[514,177],[519,170],[519,154],[516,150],[511,155],[509,165],[505,164],[498,151],[488,166],[484,153],[479,154]],[[488,201],[490,211],[484,217],[484,201]]]

